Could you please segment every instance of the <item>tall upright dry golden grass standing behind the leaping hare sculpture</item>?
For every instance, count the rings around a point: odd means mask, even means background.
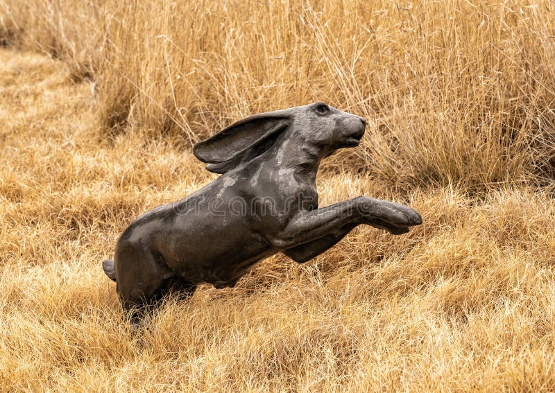
[[[131,125],[190,146],[241,116],[323,100],[370,120],[350,164],[399,191],[553,176],[549,0],[1,0],[0,9],[6,39],[92,76],[112,133]]]

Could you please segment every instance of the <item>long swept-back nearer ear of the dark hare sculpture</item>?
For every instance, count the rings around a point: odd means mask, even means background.
[[[210,164],[220,164],[225,161],[230,163],[238,161],[237,164],[239,164],[244,161],[243,158],[252,159],[261,154],[260,146],[268,145],[264,141],[285,130],[289,123],[290,116],[287,111],[254,114],[233,123],[205,141],[196,143],[193,153],[200,161]],[[208,169],[210,171],[210,168]],[[220,171],[218,173],[222,173]]]

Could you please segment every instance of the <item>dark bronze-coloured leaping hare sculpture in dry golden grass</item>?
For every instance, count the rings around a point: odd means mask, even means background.
[[[197,143],[194,155],[222,175],[187,198],[139,216],[103,262],[123,308],[137,310],[200,283],[232,287],[253,265],[283,252],[304,263],[357,225],[403,234],[420,225],[402,204],[360,196],[318,209],[324,157],[358,146],[366,121],[325,103],[248,116]]]

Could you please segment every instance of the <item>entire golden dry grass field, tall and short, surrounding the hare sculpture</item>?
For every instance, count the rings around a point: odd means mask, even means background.
[[[550,0],[0,0],[0,43],[1,391],[555,391]],[[274,256],[134,334],[119,234],[214,179],[193,143],[318,100],[368,120],[321,206],[424,224]]]

